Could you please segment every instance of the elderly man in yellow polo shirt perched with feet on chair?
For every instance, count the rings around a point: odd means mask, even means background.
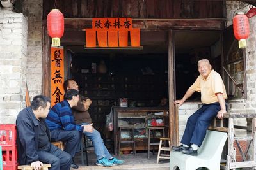
[[[223,118],[226,113],[227,93],[220,74],[212,69],[207,59],[198,61],[200,76],[195,83],[189,87],[181,100],[174,104],[182,105],[194,92],[201,93],[202,108],[198,109],[188,118],[180,146],[172,149],[188,155],[197,155],[197,149],[201,146],[206,130],[214,117]]]

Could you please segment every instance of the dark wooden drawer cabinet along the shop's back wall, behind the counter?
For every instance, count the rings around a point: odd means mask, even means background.
[[[165,96],[165,81],[159,75],[72,73],[80,94],[92,100],[89,113],[98,131],[106,126],[111,106],[119,106],[120,98],[128,98],[129,106],[157,106]]]

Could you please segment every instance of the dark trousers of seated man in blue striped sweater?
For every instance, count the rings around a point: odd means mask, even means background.
[[[79,131],[65,131],[54,129],[51,131],[52,141],[63,141],[65,143],[64,151],[74,157],[76,152],[80,150],[82,133]]]

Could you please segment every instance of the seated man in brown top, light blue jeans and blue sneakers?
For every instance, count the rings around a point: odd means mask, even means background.
[[[79,90],[76,81],[72,79],[66,80],[63,83],[63,85],[64,85],[65,91],[70,89],[75,89],[77,91]],[[81,124],[81,125],[92,124],[92,119],[90,118],[90,115],[88,112],[88,108],[90,104],[92,104],[92,101],[90,99],[79,95],[79,101],[77,103],[77,106],[72,107],[72,113],[75,117],[76,124]],[[96,164],[98,166],[109,167],[109,166],[119,165],[124,163],[124,160],[119,160],[119,159],[116,159],[115,157],[112,157],[112,155],[108,152],[108,149],[104,145],[100,133],[96,129],[93,129],[92,133],[84,132],[84,134],[93,142],[95,154],[97,155]]]

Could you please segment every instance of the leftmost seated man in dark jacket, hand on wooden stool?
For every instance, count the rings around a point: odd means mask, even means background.
[[[51,144],[49,128],[44,118],[50,108],[50,99],[38,95],[31,106],[17,116],[17,148],[20,165],[31,164],[40,169],[43,163],[51,164],[51,170],[70,169],[71,156]]]

